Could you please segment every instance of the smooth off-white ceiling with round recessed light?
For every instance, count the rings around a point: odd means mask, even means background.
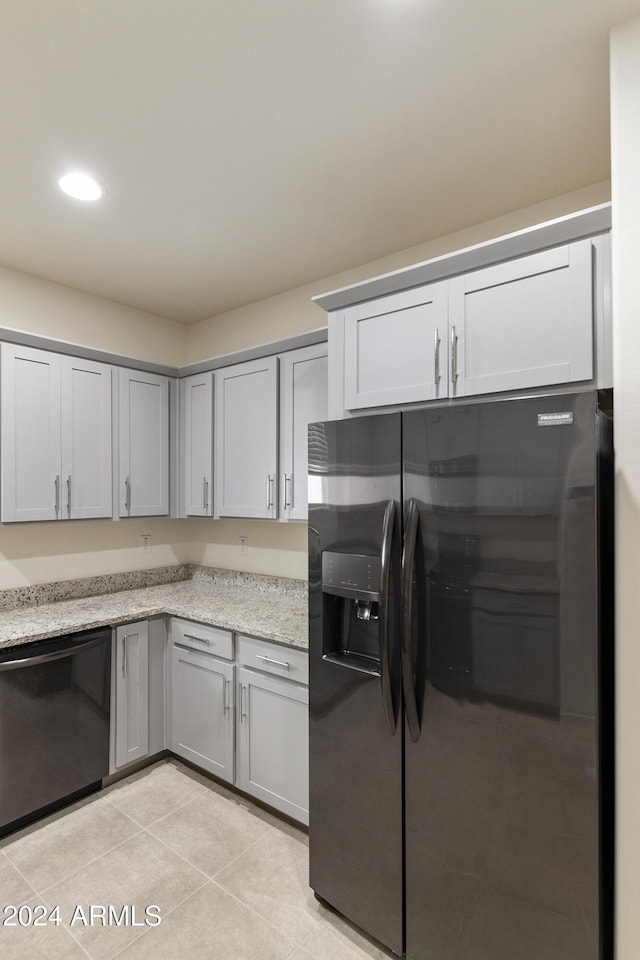
[[[637,13],[0,0],[0,264],[190,323],[605,180]]]

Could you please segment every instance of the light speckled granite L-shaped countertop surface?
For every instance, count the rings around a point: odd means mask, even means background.
[[[238,582],[184,580],[0,611],[0,648],[169,614],[307,649],[306,592]]]

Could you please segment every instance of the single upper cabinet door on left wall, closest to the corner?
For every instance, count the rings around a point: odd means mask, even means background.
[[[120,370],[121,517],[169,513],[169,381]]]

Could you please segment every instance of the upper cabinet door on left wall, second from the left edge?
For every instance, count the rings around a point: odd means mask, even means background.
[[[110,517],[111,367],[62,357],[62,516]]]

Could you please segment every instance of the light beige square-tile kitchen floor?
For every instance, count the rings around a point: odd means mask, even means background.
[[[22,911],[24,925],[6,925],[2,913],[0,957],[391,957],[320,906],[308,866],[302,830],[177,761],[163,762],[0,841],[0,910],[31,908]],[[161,922],[146,926],[152,904]],[[60,924],[29,923],[38,905],[58,906]],[[91,905],[111,905],[117,915],[127,906],[129,922],[103,924],[94,913],[91,923]]]

